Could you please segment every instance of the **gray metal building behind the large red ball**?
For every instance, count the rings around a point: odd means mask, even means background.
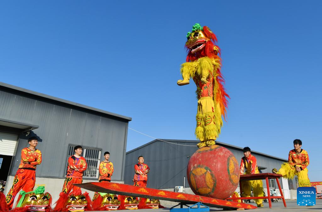
[[[149,166],[147,187],[157,189],[173,190],[175,186],[183,186],[185,177],[185,187],[189,187],[186,170],[190,156],[198,149],[197,140],[153,140],[136,149],[126,153],[125,160],[125,178],[126,184],[133,184],[134,165],[137,163],[137,157],[142,155],[145,163]],[[166,142],[165,142],[166,141]],[[237,147],[223,142],[216,142],[217,145],[229,149],[240,164],[243,157],[243,147]],[[257,159],[257,165],[260,172],[271,172],[273,168],[279,168],[286,159],[277,158],[257,151],[251,151]],[[215,158],[213,159],[216,160]],[[296,198],[296,180],[279,179],[280,185],[284,190],[286,198],[293,198],[295,191]],[[270,188],[278,188],[274,180],[269,182]],[[263,182],[266,191],[266,183]],[[294,190],[295,189],[295,190]],[[239,191],[239,187],[237,188]]]

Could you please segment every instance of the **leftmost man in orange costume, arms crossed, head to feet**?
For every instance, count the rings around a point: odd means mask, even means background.
[[[14,182],[6,197],[6,202],[11,209],[14,198],[20,189],[25,192],[33,191],[36,181],[36,166],[41,164],[41,151],[36,149],[38,139],[31,137],[28,139],[29,147],[21,150],[21,162],[14,176]]]

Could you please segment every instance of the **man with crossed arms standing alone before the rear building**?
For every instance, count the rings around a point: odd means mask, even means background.
[[[147,187],[147,173],[150,171],[147,164],[143,163],[144,158],[140,156],[137,158],[138,163],[134,165],[134,186]]]

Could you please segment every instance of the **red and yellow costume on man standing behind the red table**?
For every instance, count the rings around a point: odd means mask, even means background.
[[[244,169],[246,172],[244,173]],[[257,161],[255,156],[249,155],[248,158],[242,157],[240,166],[240,175],[243,174],[258,174]],[[261,180],[242,181],[242,197],[251,196],[251,188],[253,188],[254,197],[264,197],[263,182]],[[263,199],[254,199],[257,206],[262,205]]]

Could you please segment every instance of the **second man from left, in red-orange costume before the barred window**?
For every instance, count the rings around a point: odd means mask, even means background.
[[[87,169],[85,158],[81,157],[83,148],[81,146],[74,147],[75,154],[68,159],[67,176],[62,187],[62,192],[69,194],[71,189],[73,191],[81,189],[74,186],[73,183],[83,182],[83,171]]]

